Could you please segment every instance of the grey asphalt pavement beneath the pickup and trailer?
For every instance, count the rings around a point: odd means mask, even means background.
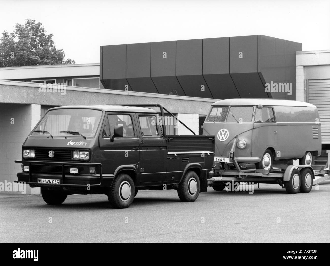
[[[208,188],[193,203],[176,190],[139,191],[128,209],[112,209],[101,194],[71,195],[58,206],[0,194],[0,243],[329,243],[330,180],[317,188]]]

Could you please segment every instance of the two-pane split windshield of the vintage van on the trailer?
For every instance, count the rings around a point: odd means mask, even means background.
[[[252,106],[217,106],[212,108],[206,122],[251,122],[252,115]]]

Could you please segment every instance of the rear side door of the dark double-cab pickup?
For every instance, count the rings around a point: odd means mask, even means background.
[[[138,114],[141,147],[140,183],[161,184],[166,167],[166,142],[156,114]]]

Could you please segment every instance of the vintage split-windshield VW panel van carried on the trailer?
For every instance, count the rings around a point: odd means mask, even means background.
[[[215,162],[231,162],[229,152],[237,135],[238,163],[270,170],[281,160],[300,159],[313,165],[321,153],[319,115],[313,104],[279,99],[238,98],[212,104],[203,134],[215,135]]]

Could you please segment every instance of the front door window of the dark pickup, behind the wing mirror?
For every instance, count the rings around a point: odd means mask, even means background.
[[[115,126],[123,126],[124,137],[134,137],[135,134],[130,115],[107,115],[102,135],[113,136]]]

